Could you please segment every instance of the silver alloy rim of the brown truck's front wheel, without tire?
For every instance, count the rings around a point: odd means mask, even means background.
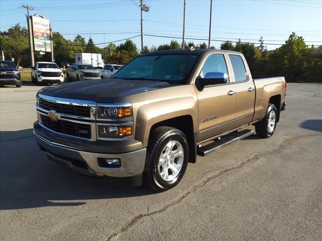
[[[182,168],[184,157],[183,147],[178,141],[168,142],[161,152],[157,165],[160,177],[167,182],[174,180]]]

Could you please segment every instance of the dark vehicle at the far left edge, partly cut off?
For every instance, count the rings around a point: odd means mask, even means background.
[[[21,78],[15,62],[0,60],[0,86],[5,85],[21,87]]]

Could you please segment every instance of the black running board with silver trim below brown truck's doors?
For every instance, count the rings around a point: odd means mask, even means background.
[[[252,131],[252,130],[243,130],[240,132],[234,132],[234,133],[228,134],[226,136],[221,137],[220,140],[215,140],[214,142],[212,142],[206,146],[199,147],[198,151],[197,151],[197,155],[204,157],[204,156],[208,155],[209,153],[211,153],[221,147],[224,147],[232,142],[235,142],[235,141],[241,140],[245,137],[248,137],[248,136],[252,135],[253,133],[254,133],[254,131]]]

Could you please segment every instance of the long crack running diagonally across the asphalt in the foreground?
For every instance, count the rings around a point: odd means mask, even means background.
[[[186,191],[183,195],[181,195],[179,198],[177,198],[176,200],[172,201],[171,203],[168,203],[166,204],[165,206],[163,206],[162,208],[158,209],[158,210],[155,210],[153,212],[147,212],[147,213],[144,213],[144,214],[139,214],[135,217],[133,217],[129,222],[127,222],[124,226],[122,226],[119,230],[117,230],[116,232],[112,233],[110,236],[108,236],[108,238],[106,239],[106,241],[109,241],[111,240],[112,238],[118,236],[119,234],[121,234],[123,231],[125,231],[126,229],[128,229],[130,226],[132,226],[134,223],[136,223],[138,220],[142,219],[143,217],[146,217],[146,216],[152,216],[154,214],[157,214],[157,213],[161,213],[165,210],[167,210],[169,207],[171,206],[174,206],[176,204],[178,204],[179,202],[181,202],[186,196],[188,196],[190,193],[196,191],[197,189],[205,186],[209,181],[227,173],[227,172],[230,172],[230,171],[233,171],[233,170],[236,170],[236,169],[240,169],[240,168],[243,168],[246,164],[254,161],[254,160],[258,160],[260,157],[263,157],[263,156],[266,156],[268,154],[271,154],[273,152],[276,152],[276,151],[279,151],[281,150],[283,147],[285,146],[288,146],[288,145],[291,145],[293,144],[295,141],[299,140],[299,139],[302,139],[302,138],[308,138],[308,137],[318,137],[318,136],[322,136],[320,134],[311,134],[311,135],[304,135],[304,136],[291,136],[287,139],[285,139],[284,141],[282,141],[276,148],[272,149],[272,150],[269,150],[269,151],[265,151],[265,152],[262,152],[262,153],[258,153],[256,155],[254,155],[252,158],[249,158],[247,159],[246,161],[244,162],[241,162],[240,164],[236,165],[236,166],[233,166],[233,167],[230,167],[230,168],[227,168],[227,169],[224,169],[222,171],[220,171],[219,173],[217,174],[214,174],[210,177],[207,177],[206,179],[202,180],[200,183],[194,185],[190,190]]]

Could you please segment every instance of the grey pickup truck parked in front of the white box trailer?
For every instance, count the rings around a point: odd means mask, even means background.
[[[66,71],[66,78],[68,81],[100,79],[101,73],[90,64],[72,64]]]

